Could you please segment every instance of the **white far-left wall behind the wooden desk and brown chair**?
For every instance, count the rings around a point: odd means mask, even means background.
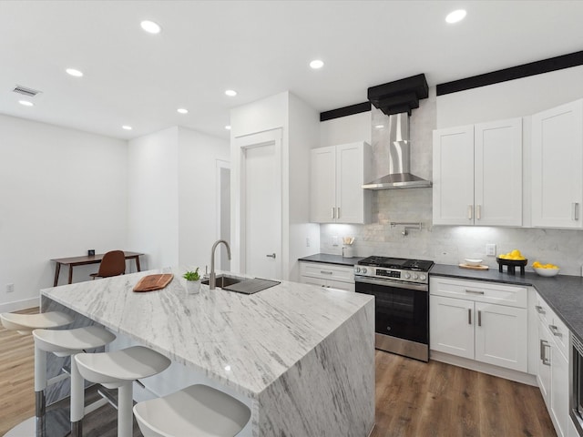
[[[0,157],[0,310],[38,304],[53,286],[50,259],[141,249],[126,240],[125,141],[0,115]],[[73,280],[95,271],[77,267]]]

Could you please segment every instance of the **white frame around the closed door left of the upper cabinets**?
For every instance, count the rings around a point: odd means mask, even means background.
[[[246,259],[246,208],[247,199],[246,195],[246,151],[253,147],[264,147],[273,145],[275,147],[275,162],[278,167],[280,178],[278,179],[279,188],[278,191],[281,193],[276,199],[275,208],[280,212],[280,254],[279,258],[279,271],[281,272],[281,278],[285,279],[286,269],[284,269],[283,263],[283,252],[285,248],[283,247],[284,239],[283,237],[283,209],[282,209],[282,129],[275,128],[266,130],[263,132],[257,132],[249,135],[243,135],[240,137],[234,137],[231,147],[231,158],[233,158],[233,166],[231,168],[230,174],[230,184],[231,184],[231,239],[233,252],[233,260],[231,260],[231,269],[237,270],[240,273],[244,273],[247,267]],[[234,262],[233,262],[234,261]]]

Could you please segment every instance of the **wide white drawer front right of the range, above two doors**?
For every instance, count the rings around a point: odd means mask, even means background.
[[[429,292],[435,296],[527,308],[527,288],[495,282],[432,277]]]

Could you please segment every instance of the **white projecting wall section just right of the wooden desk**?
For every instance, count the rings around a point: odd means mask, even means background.
[[[179,128],[128,144],[128,245],[146,253],[142,269],[179,264]]]

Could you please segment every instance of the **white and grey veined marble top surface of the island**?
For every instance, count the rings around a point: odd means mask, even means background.
[[[187,295],[186,270],[150,270],[42,294],[251,398],[363,307],[373,307],[370,296],[286,281],[251,296],[204,286]],[[138,279],[162,272],[175,275],[166,289],[132,291]]]

